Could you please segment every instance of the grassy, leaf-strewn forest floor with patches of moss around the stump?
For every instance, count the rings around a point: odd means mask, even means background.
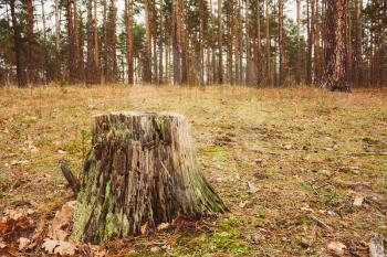
[[[2,88],[0,233],[12,211],[33,221],[0,234],[0,251],[72,199],[57,162],[81,175],[92,116],[129,109],[186,115],[200,168],[230,213],[108,242],[112,255],[367,256],[375,233],[387,238],[386,89]]]

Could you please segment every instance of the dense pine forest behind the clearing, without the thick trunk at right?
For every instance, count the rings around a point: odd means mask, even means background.
[[[342,2],[346,78],[383,85],[387,3]],[[326,9],[326,0],[1,0],[0,85],[318,85]]]

